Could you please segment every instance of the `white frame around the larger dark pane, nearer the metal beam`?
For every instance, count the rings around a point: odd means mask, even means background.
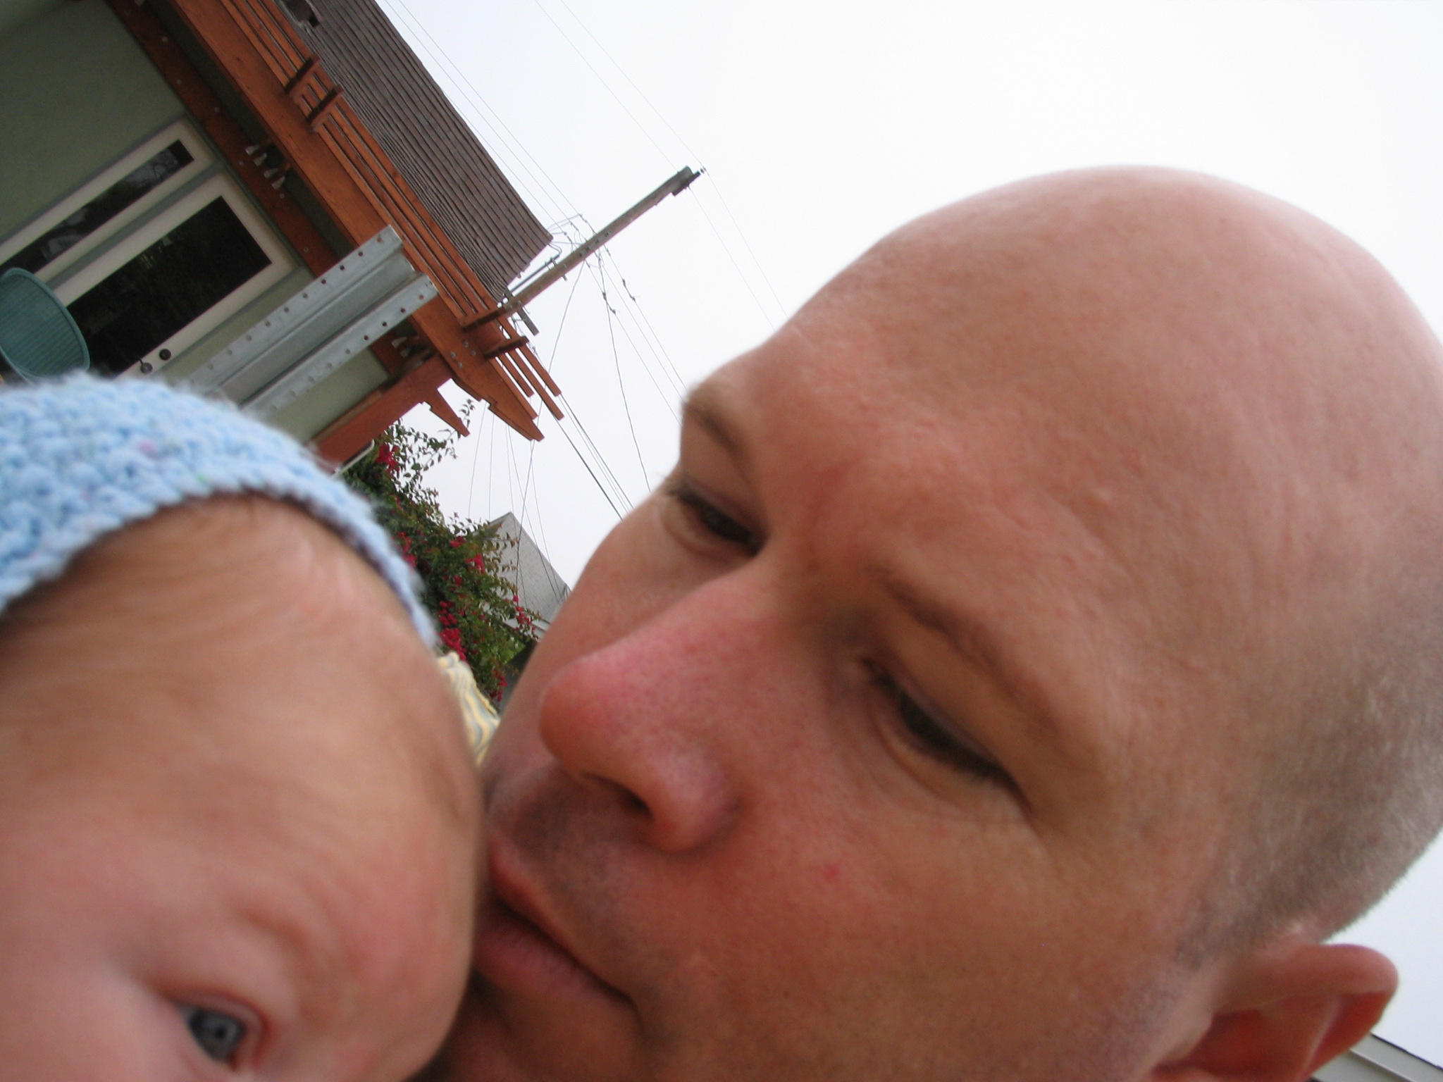
[[[76,297],[81,297],[94,286],[98,286],[114,271],[130,263],[130,260],[195,215],[198,211],[212,203],[216,196],[225,199],[227,205],[235,212],[235,216],[241,219],[241,225],[245,226],[247,232],[250,232],[254,241],[260,245],[261,251],[266,252],[267,258],[270,258],[270,265],[261,270],[255,277],[241,283],[241,286],[225,294],[219,302],[208,307],[136,362],[136,365],[149,364],[156,369],[165,368],[166,364],[179,356],[182,351],[189,349],[192,345],[199,342],[215,327],[244,309],[296,268],[296,261],[291,260],[284,242],[276,235],[276,231],[271,229],[270,224],[255,212],[255,208],[251,206],[251,201],[241,190],[241,186],[229,177],[229,175],[216,173],[211,179],[198,185],[193,192],[188,192],[183,198],[177,199],[173,206],[167,206],[94,263],[82,267],[72,277],[55,286],[55,296],[58,296],[65,304],[72,303]],[[165,361],[162,361],[160,353],[165,351],[169,351],[169,355]],[[131,365],[126,371],[134,371],[136,365]],[[143,368],[141,371],[150,369]]]

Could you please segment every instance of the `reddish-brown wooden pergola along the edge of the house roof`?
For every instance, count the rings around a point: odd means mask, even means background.
[[[209,79],[202,74],[154,10],[157,1],[108,0],[310,271],[320,276],[345,250],[391,225],[407,258],[439,289],[434,302],[411,315],[413,335],[374,343],[390,372],[387,382],[319,433],[316,452],[345,462],[420,403],[465,434],[462,418],[440,394],[446,381],[485,401],[518,433],[541,439],[532,400],[560,418],[560,388],[527,338],[498,313],[495,283],[488,289],[476,260],[462,254],[457,239],[465,238],[437,222],[293,16],[276,0],[165,0],[219,72],[225,85],[218,87],[215,72]],[[250,115],[232,115],[227,92]],[[294,196],[297,179],[346,241],[343,251],[328,244]]]

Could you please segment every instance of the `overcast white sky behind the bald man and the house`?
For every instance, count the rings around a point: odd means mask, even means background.
[[[569,581],[670,467],[684,385],[895,225],[1007,180],[1141,162],[1260,188],[1443,327],[1436,0],[381,3],[544,222],[586,232],[709,170],[531,306],[574,420],[543,415],[537,446],[486,420],[437,473],[453,511],[515,511]],[[1440,913],[1434,847],[1346,936],[1403,969],[1380,1033],[1436,1063]]]

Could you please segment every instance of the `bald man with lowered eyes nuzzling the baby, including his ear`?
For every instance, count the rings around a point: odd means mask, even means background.
[[[1266,196],[922,218],[693,394],[485,767],[456,1082],[1297,1082],[1443,817],[1443,381]]]

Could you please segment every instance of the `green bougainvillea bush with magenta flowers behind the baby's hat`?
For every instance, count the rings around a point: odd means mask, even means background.
[[[420,574],[442,642],[496,698],[506,687],[505,664],[535,638],[535,615],[517,596],[514,553],[483,524],[442,511],[426,485],[426,472],[455,453],[455,436],[395,424],[342,476],[375,503],[381,525]]]

